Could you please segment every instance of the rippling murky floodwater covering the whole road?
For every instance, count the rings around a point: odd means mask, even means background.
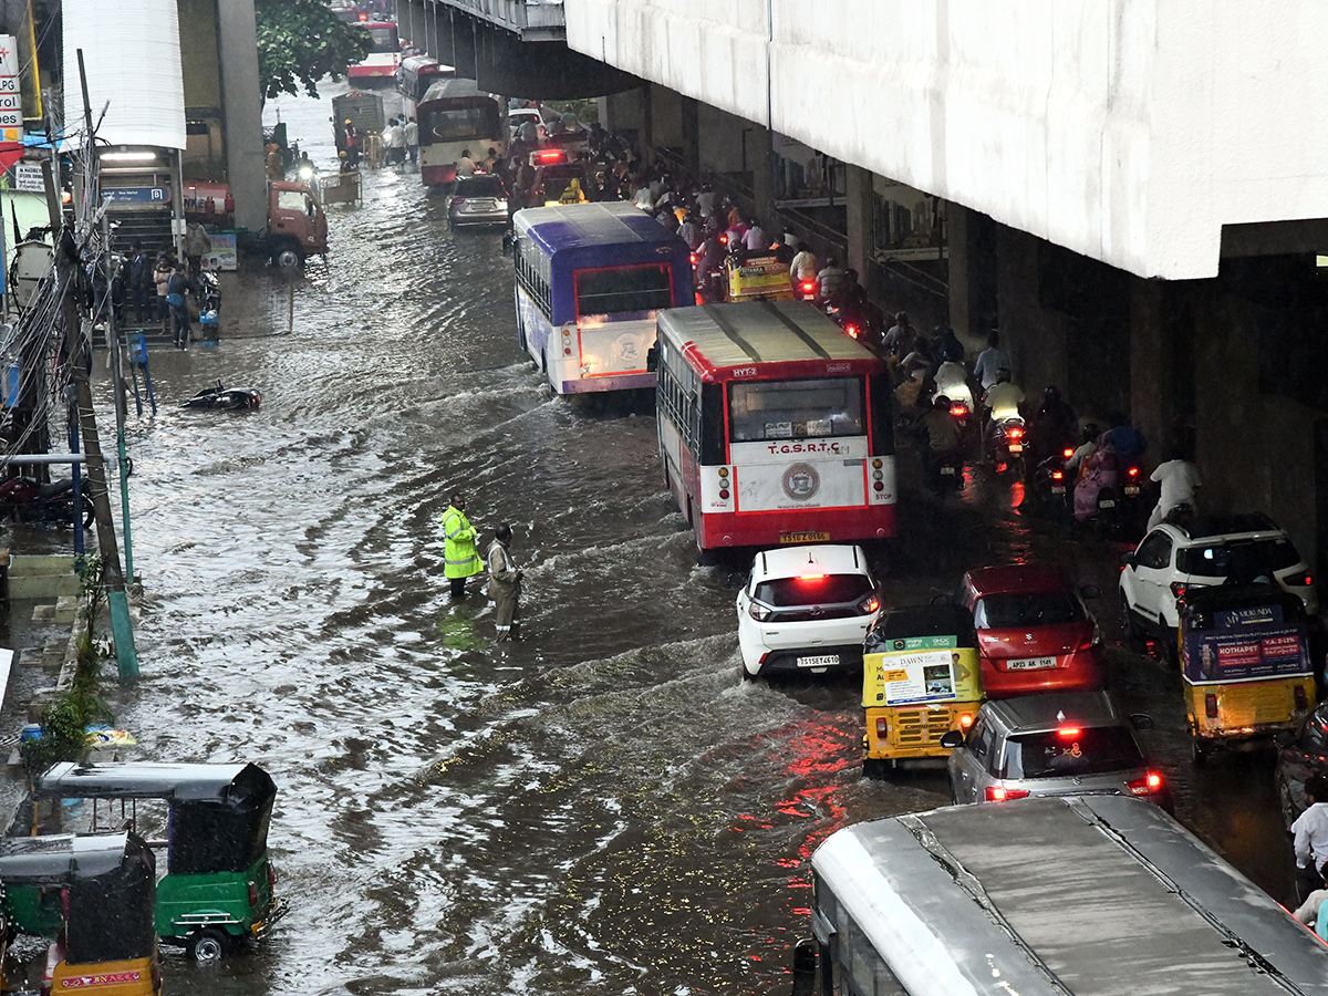
[[[335,92],[267,109],[325,167]],[[740,679],[740,564],[696,566],[653,417],[552,397],[523,361],[497,234],[449,231],[408,170],[329,212],[290,332],[284,284],[258,275],[219,348],[154,351],[162,408],[129,421],[142,680],[117,720],[142,758],[272,773],[288,906],[255,954],[167,952],[167,991],[782,991],[811,850],[946,803],[942,770],[862,778],[855,679]],[[262,409],[177,408],[215,378]],[[1057,559],[1102,587],[1114,636],[1116,551],[1031,529],[1001,487],[944,507],[906,491],[887,602]],[[494,645],[483,596],[446,598],[453,489],[485,540],[514,526],[521,643]],[[1282,888],[1267,764],[1197,778],[1179,680],[1112,664],[1158,720],[1179,815]]]

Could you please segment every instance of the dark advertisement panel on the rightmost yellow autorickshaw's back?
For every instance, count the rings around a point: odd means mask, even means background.
[[[1191,684],[1311,673],[1305,627],[1284,622],[1276,604],[1214,612],[1208,628],[1185,625],[1182,644]]]

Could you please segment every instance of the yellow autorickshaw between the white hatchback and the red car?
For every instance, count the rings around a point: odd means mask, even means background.
[[[946,757],[940,738],[968,730],[983,701],[973,618],[957,606],[900,606],[867,631],[862,659],[863,772]]]

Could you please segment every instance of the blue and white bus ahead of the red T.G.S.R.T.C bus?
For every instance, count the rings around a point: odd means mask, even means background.
[[[655,316],[695,303],[687,243],[629,203],[513,219],[517,336],[559,394],[653,388]]]

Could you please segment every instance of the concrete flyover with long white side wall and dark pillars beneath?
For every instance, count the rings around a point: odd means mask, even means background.
[[[1127,413],[1154,462],[1195,454],[1201,510],[1268,511],[1328,562],[1315,256],[1328,252],[1328,4],[564,0],[564,13],[568,46],[649,81],[647,145],[703,174],[754,145],[774,163],[744,154],[761,211],[795,171],[781,143],[845,163],[850,260],[903,258],[908,239],[891,248],[882,232],[926,219],[940,317],[997,325],[1029,394],[1054,382],[1080,410]],[[708,137],[713,121],[728,134]],[[884,303],[906,301],[875,276]]]

